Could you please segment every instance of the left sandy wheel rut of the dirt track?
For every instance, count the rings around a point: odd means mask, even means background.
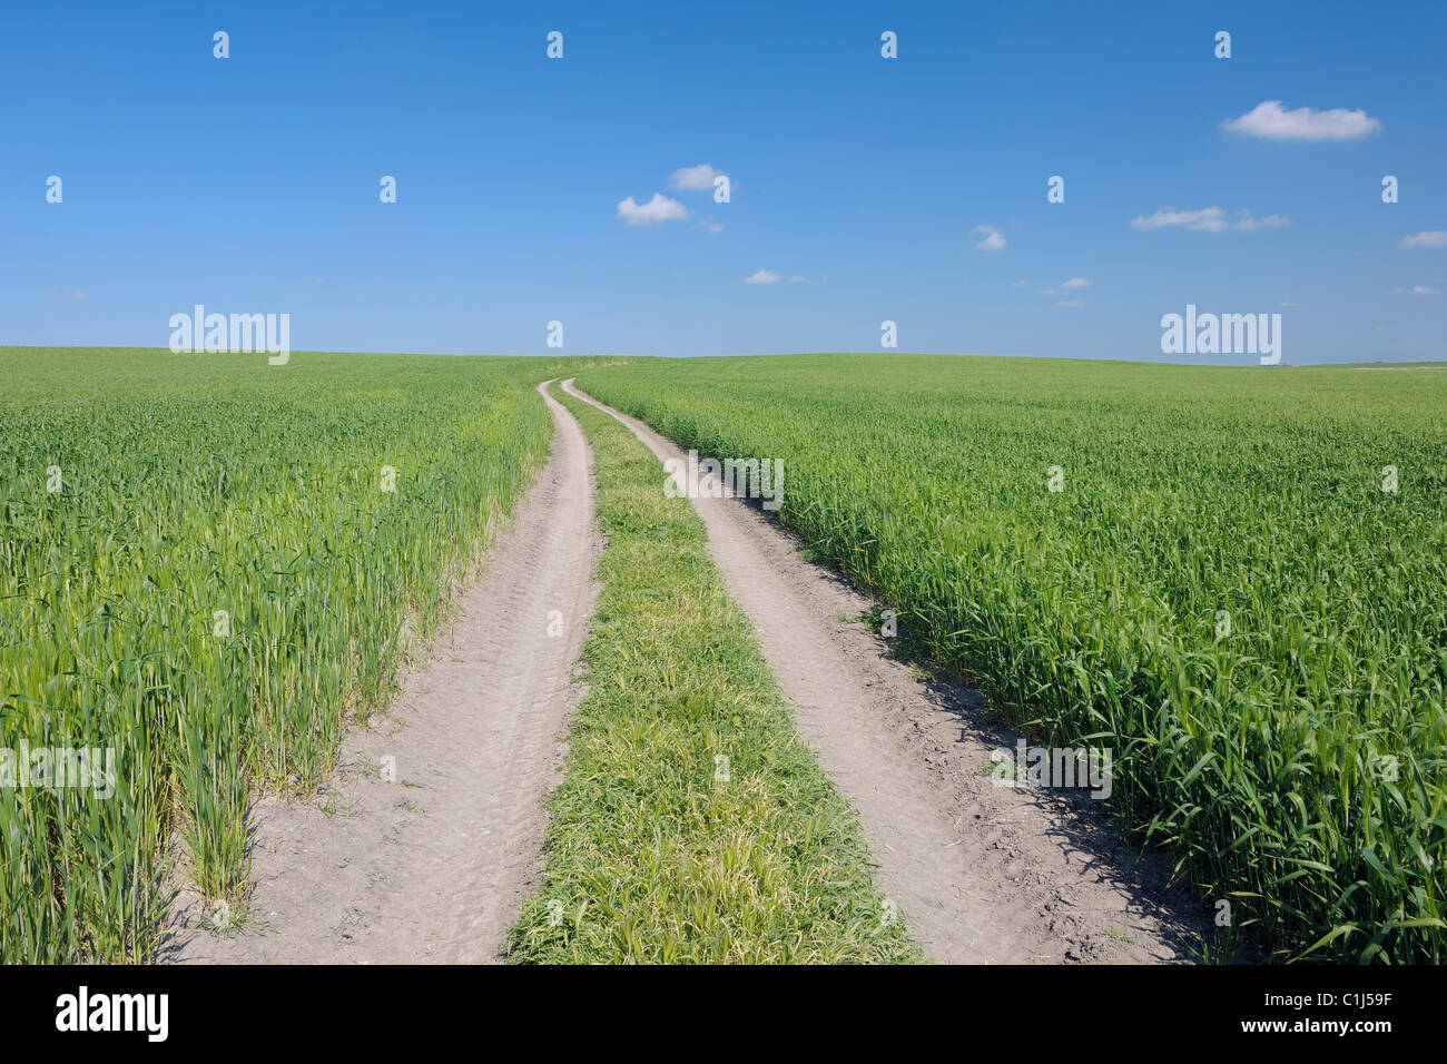
[[[242,934],[184,929],[207,913],[182,899],[182,929],[161,960],[498,958],[540,866],[541,801],[559,779],[582,692],[570,673],[598,591],[592,456],[572,415],[544,398],[553,455],[462,594],[451,631],[402,679],[391,711],[346,738],[318,802],[256,805]],[[561,634],[548,634],[550,611]],[[395,782],[382,777],[386,757]]]

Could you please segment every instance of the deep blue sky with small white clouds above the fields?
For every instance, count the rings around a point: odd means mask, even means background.
[[[508,7],[7,4],[0,343],[164,347],[203,303],[298,350],[877,350],[887,318],[1163,360],[1189,303],[1281,313],[1288,363],[1447,358],[1447,246],[1408,240],[1447,230],[1447,4]],[[729,203],[670,181],[699,165]],[[619,217],[655,193],[687,217]]]

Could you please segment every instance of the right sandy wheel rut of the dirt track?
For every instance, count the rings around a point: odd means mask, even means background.
[[[564,388],[632,428],[660,460],[680,456],[572,381]],[[871,602],[805,562],[761,511],[731,498],[693,504],[800,735],[858,809],[881,886],[932,958],[1188,958],[1204,913],[1169,890],[1163,860],[1137,858],[1088,801],[1001,786],[987,774],[990,756],[1013,748],[1016,735],[993,722],[978,692],[893,660],[884,638],[848,620]]]

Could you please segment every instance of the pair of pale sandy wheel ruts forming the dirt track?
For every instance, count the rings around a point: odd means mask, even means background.
[[[563,387],[618,417],[660,460],[679,456],[572,381]],[[586,440],[544,398],[553,455],[463,592],[457,622],[404,679],[392,711],[349,734],[323,802],[258,805],[246,932],[179,931],[162,960],[498,958],[538,866],[541,801],[557,783],[561,732],[580,693],[569,676],[601,550]],[[985,774],[991,751],[1014,735],[990,722],[977,692],[888,657],[881,637],[846,620],[870,602],[802,560],[744,501],[693,502],[800,734],[858,809],[881,887],[932,958],[1185,957],[1195,925],[1169,908],[1159,863],[1133,863],[1094,811]],[[557,637],[548,636],[554,609],[564,625]],[[385,757],[395,759],[396,782],[379,776]],[[194,902],[181,906],[182,924],[201,916]]]

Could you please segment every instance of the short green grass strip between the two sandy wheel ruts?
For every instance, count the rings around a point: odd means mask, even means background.
[[[608,549],[589,693],[550,798],[514,961],[917,960],[854,811],[794,732],[687,499],[606,414],[553,394],[593,447]],[[570,620],[570,618],[567,618]]]

